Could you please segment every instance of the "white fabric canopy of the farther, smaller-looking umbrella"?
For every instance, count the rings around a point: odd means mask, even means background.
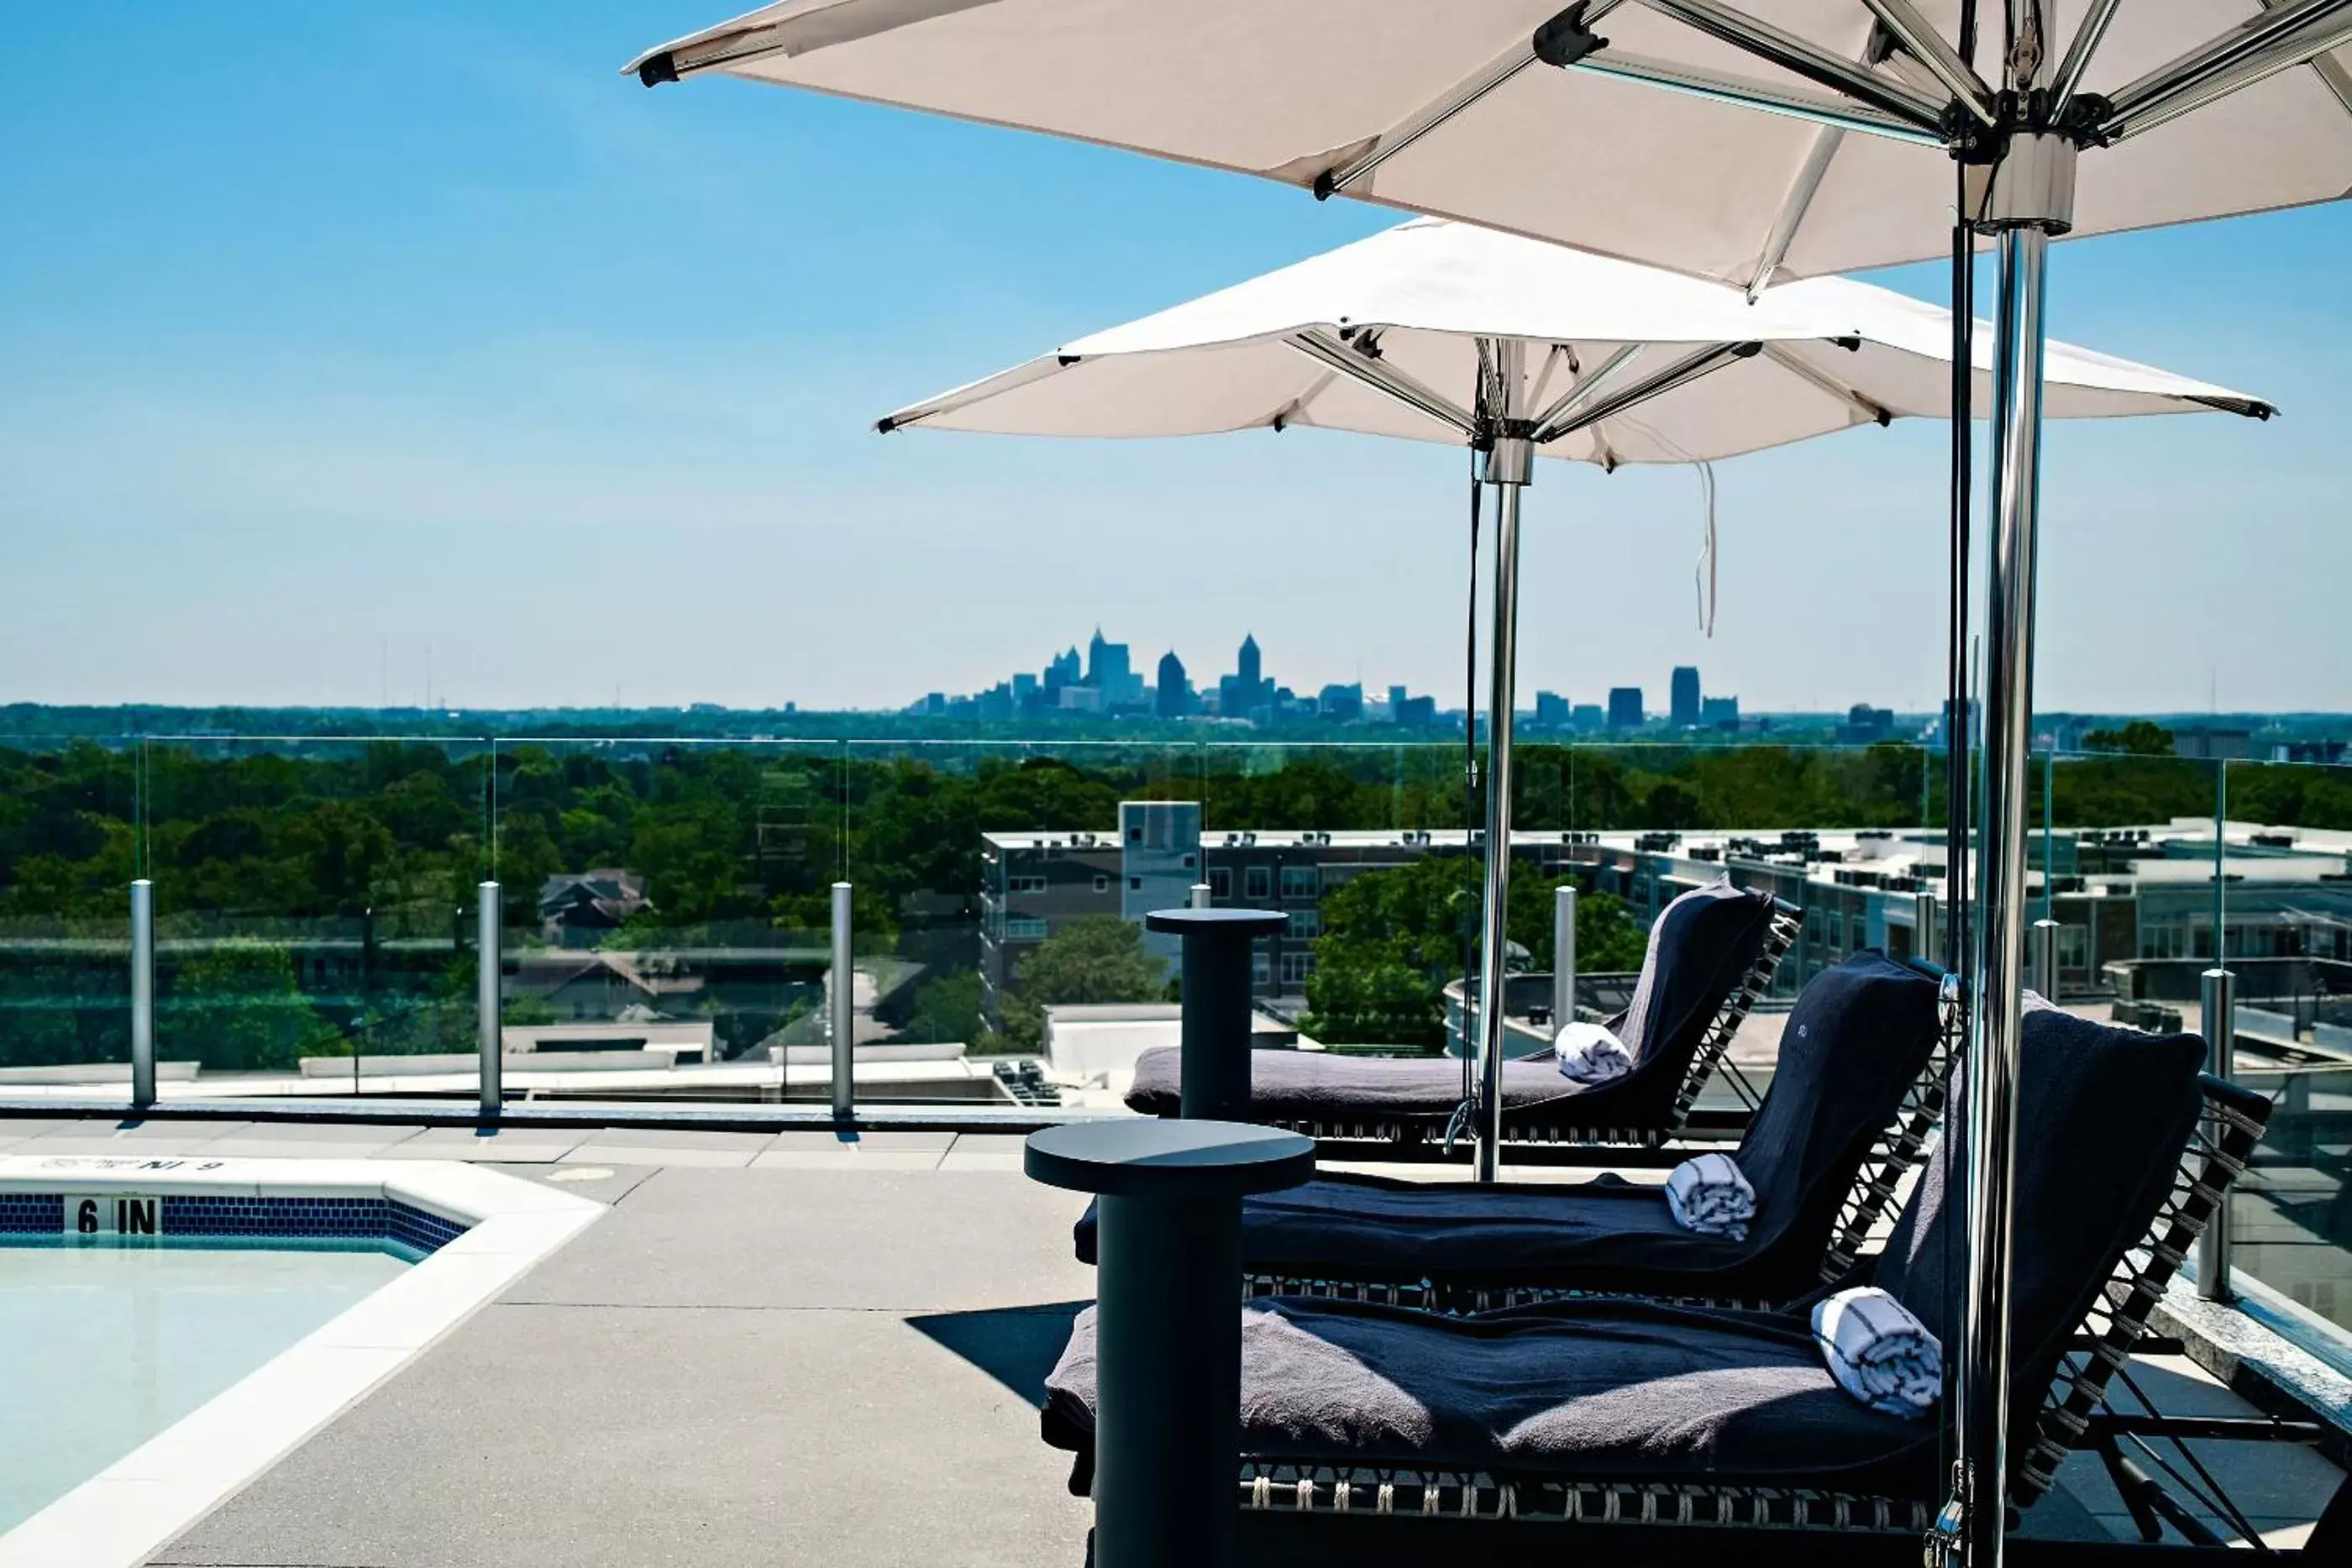
[[[898,409],[884,430],[1207,435],[1317,425],[1465,440],[1479,343],[1522,341],[1522,407],[1562,404],[1541,456],[1691,463],[1952,407],[1950,313],[1844,277],[1738,289],[1515,235],[1416,219],[1249,282],[1077,339]],[[1691,348],[1759,343],[1616,416]],[[1376,357],[1374,357],[1376,355]],[[1978,381],[1990,388],[1990,346]],[[1402,386],[1397,386],[1402,383]],[[2270,404],[2051,343],[2046,411],[2126,416]],[[1538,418],[1541,423],[1541,418]]]

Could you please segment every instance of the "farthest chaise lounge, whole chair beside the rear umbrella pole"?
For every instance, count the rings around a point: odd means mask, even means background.
[[[1576,1084],[1548,1051],[1503,1063],[1505,1145],[1658,1145],[1679,1133],[1797,929],[1795,905],[1736,889],[1726,877],[1665,905],[1649,933],[1632,1006],[1611,1020],[1632,1072]],[[1174,1048],[1138,1056],[1127,1105],[1174,1117],[1181,1065]],[[1463,1063],[1449,1058],[1251,1051],[1249,1072],[1251,1121],[1322,1140],[1437,1143],[1463,1105]]]

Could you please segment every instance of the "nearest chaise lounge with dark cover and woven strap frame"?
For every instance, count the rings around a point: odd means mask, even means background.
[[[2020,1509],[2086,1443],[2110,1378],[2270,1114],[2260,1095],[2199,1074],[2194,1034],[2032,1011],[2023,1048],[2006,1476]],[[1856,1284],[1891,1291],[1957,1347],[1962,1246],[1950,1143],[1938,1143],[1893,1239]],[[1242,1316],[1244,1540],[1296,1544],[1308,1530],[1317,1549],[1336,1549],[1338,1528],[1348,1561],[1364,1561],[1367,1542],[1385,1549],[1397,1528],[1550,1521],[1538,1533],[1548,1554],[1651,1559],[1708,1540],[1731,1547],[1724,1526],[1783,1540],[1820,1533],[1818,1547],[1886,1542],[1924,1530],[1945,1495],[1938,1415],[1882,1415],[1839,1392],[1806,1305],[1562,1300],[1449,1319],[1265,1300]],[[1077,1455],[1080,1493],[1091,1422],[1089,1312],[1047,1380],[1042,1415],[1044,1439]],[[1562,1523],[1613,1540],[1571,1547]],[[1828,1561],[1813,1549],[1809,1561]]]

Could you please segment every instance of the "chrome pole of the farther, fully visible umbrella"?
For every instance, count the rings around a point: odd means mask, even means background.
[[[1510,376],[1517,383],[1517,376]],[[1519,491],[1534,444],[1498,435],[1486,451],[1486,482],[1501,491],[1494,531],[1494,658],[1486,698],[1486,898],[1479,924],[1477,1006],[1477,1178],[1491,1182],[1503,1159],[1503,959],[1510,914],[1510,712],[1519,658]]]

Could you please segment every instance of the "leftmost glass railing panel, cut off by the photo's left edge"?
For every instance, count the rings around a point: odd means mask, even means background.
[[[0,736],[0,1098],[129,1084],[139,743]]]

